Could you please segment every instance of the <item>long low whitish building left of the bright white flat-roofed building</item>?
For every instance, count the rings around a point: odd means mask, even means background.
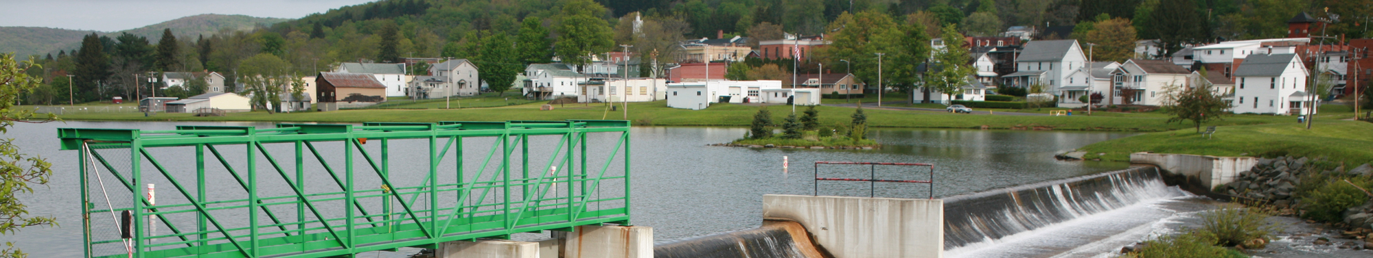
[[[577,93],[577,102],[656,102],[667,91],[667,80],[632,78],[612,81],[590,81],[584,92]]]

